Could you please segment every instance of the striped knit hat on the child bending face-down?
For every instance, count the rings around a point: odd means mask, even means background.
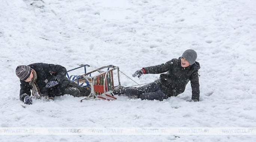
[[[30,76],[31,70],[29,66],[20,65],[16,68],[16,76],[22,81],[25,81]]]

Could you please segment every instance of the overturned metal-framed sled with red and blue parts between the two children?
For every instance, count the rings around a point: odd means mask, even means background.
[[[81,67],[85,67],[85,74],[83,75],[71,75],[69,76],[67,73],[68,78],[71,81],[78,83],[82,87],[87,87],[91,90],[91,93],[88,97],[81,100],[89,100],[95,98],[101,98],[104,100],[116,100],[117,98],[114,97],[113,89],[117,86],[114,84],[114,74],[113,71],[117,70],[118,76],[118,86],[121,85],[120,77],[119,77],[119,67],[117,66],[104,66],[98,69],[92,70],[91,72],[86,73],[86,66],[84,65],[77,67],[72,70],[68,70],[67,72],[79,69]],[[103,71],[104,70],[104,71]],[[96,74],[92,76],[92,74]]]

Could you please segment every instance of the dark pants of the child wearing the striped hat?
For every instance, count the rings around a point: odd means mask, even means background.
[[[89,89],[82,87],[75,82],[70,82],[67,88],[64,90],[63,95],[69,94],[74,97],[82,97],[82,96],[88,96],[90,93],[91,91]]]

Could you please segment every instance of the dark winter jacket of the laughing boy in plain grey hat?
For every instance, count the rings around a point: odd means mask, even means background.
[[[174,58],[166,63],[157,66],[144,67],[143,69],[146,71],[146,74],[163,73],[155,82],[168,97],[177,96],[183,93],[186,85],[191,81],[192,99],[199,101],[200,90],[198,70],[200,69],[200,65],[198,62],[195,62],[191,66],[184,68],[181,66],[180,59],[180,57],[179,59]]]

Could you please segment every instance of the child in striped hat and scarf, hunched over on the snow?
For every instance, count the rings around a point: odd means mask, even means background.
[[[88,96],[90,90],[83,88],[67,77],[65,67],[57,64],[34,63],[28,66],[20,65],[16,68],[16,75],[20,79],[21,89],[19,99],[25,104],[32,104],[32,95],[55,97],[70,94],[75,97]]]

